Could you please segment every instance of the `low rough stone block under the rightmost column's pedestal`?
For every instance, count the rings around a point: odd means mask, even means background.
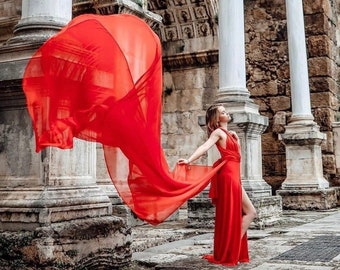
[[[325,210],[338,205],[339,191],[334,188],[319,190],[277,190],[283,209]]]

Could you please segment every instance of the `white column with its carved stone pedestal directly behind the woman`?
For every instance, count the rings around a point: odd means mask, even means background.
[[[229,128],[236,131],[241,140],[242,185],[257,208],[258,218],[254,224],[265,226],[280,219],[282,207],[281,198],[272,196],[271,187],[262,177],[261,134],[268,126],[268,118],[259,114],[258,106],[250,99],[246,88],[243,9],[241,0],[219,1],[219,90],[215,103],[224,104],[232,115]],[[208,159],[216,160],[219,155],[215,153],[208,153]],[[190,201],[189,211],[194,212],[197,208],[211,211],[206,205],[203,206],[202,197],[205,195]],[[196,204],[193,203],[195,200]],[[194,218],[191,215],[196,214],[191,212],[189,217]],[[196,216],[195,222],[199,223],[202,217]]]

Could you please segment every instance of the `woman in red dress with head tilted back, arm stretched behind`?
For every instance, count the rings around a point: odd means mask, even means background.
[[[212,105],[206,112],[209,138],[188,158],[179,164],[197,160],[214,144],[221,158],[214,164],[224,165],[212,180],[210,197],[216,206],[214,252],[205,255],[209,262],[228,266],[249,262],[247,229],[256,216],[256,210],[241,186],[240,145],[235,132],[228,131],[229,113],[220,105]]]

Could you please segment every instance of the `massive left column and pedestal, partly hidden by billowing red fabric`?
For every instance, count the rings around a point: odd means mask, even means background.
[[[23,0],[22,8],[0,46],[1,266],[120,268],[131,259],[130,231],[96,184],[95,144],[75,139],[71,150],[36,153],[21,87],[28,59],[69,21],[72,1]]]

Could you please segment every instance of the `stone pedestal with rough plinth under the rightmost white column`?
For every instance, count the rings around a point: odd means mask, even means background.
[[[321,143],[325,135],[314,122],[291,123],[280,139],[286,146],[287,177],[277,194],[286,209],[328,209],[336,206],[334,189],[323,177]]]

